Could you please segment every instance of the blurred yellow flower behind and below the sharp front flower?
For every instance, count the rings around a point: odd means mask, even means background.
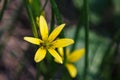
[[[58,52],[60,53],[60,55],[62,56],[62,58],[64,59],[64,51],[63,48],[58,48]],[[85,49],[79,49],[79,50],[75,50],[72,53],[70,53],[69,49],[66,49],[66,61],[65,61],[65,67],[67,68],[70,76],[72,78],[75,78],[77,75],[77,69],[74,66],[74,62],[78,61],[85,53]],[[57,60],[55,60],[56,62],[58,62]],[[59,62],[58,62],[59,63]]]

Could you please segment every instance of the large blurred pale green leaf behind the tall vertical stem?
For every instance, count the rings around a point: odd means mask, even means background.
[[[75,26],[68,29],[67,37],[73,38],[75,32]],[[79,37],[76,42],[76,49],[84,47],[84,29],[82,28],[78,33]],[[99,74],[103,58],[105,56],[105,51],[109,47],[110,39],[97,35],[93,32],[89,32],[89,70],[88,78],[93,80],[94,76]],[[108,54],[109,55],[109,54]],[[107,55],[107,56],[108,56]],[[84,72],[84,58],[80,59],[75,63],[78,69],[78,76],[82,76]],[[80,77],[82,79],[82,77]],[[98,79],[99,80],[99,79]]]

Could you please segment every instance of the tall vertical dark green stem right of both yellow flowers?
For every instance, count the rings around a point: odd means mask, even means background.
[[[89,18],[88,18],[88,0],[84,0],[84,26],[85,26],[85,69],[83,80],[87,79],[88,71],[88,52],[89,52]]]

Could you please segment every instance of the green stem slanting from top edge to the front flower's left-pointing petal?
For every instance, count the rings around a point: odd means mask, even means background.
[[[27,8],[27,12],[30,18],[30,21],[32,23],[32,31],[33,31],[33,35],[34,37],[38,37],[38,32],[37,32],[37,25],[34,19],[34,16],[32,14],[32,10],[30,8],[29,2],[27,0],[25,0],[25,4],[26,4],[26,8]]]

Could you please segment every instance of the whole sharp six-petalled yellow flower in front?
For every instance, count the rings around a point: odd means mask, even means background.
[[[56,39],[56,37],[64,28],[64,26],[65,24],[61,24],[60,26],[56,27],[48,36],[49,32],[46,20],[43,16],[39,17],[39,29],[42,39],[34,37],[24,37],[24,40],[40,46],[37,52],[35,53],[34,60],[36,62],[40,62],[41,60],[43,60],[48,51],[55,59],[57,59],[60,63],[63,63],[61,56],[57,53],[55,48],[65,47],[74,43],[72,39],[68,38]]]

